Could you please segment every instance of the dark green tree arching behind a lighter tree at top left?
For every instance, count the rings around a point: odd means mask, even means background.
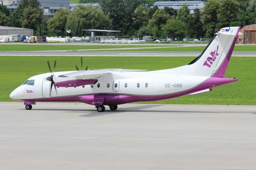
[[[31,6],[32,8],[37,8],[39,10],[40,4],[38,0],[22,0],[20,1],[17,9],[11,13],[10,17],[12,20],[12,26],[21,27],[20,18],[22,17],[25,8]]]

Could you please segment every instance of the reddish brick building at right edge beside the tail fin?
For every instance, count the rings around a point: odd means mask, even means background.
[[[244,35],[238,36],[238,44],[255,44],[256,43],[256,24],[244,26],[241,30]]]

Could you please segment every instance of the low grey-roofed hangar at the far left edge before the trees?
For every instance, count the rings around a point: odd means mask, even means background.
[[[34,35],[34,32],[32,29],[0,26],[0,36],[6,36],[10,34],[26,35],[30,37]]]

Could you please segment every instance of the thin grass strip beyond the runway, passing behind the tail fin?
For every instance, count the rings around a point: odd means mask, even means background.
[[[143,46],[142,46],[143,47]],[[170,48],[148,48],[148,49],[114,49],[104,51],[145,51],[145,52],[202,52],[205,46],[200,47],[170,47]],[[95,50],[103,51],[103,50]],[[234,51],[256,51],[256,45],[236,45]]]

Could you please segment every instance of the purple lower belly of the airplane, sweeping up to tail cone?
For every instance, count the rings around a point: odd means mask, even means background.
[[[137,102],[137,101],[156,101],[156,100],[164,100],[164,99],[172,99],[175,97],[180,97],[184,95],[188,95],[190,93],[195,93],[197,91],[202,91],[205,89],[210,89],[212,87],[216,87],[219,85],[223,85],[226,83],[232,83],[237,81],[237,79],[232,78],[220,78],[220,77],[210,77],[201,85],[194,87],[193,89],[189,89],[187,91],[182,91],[179,93],[172,93],[166,95],[157,95],[157,96],[140,96],[140,95],[119,95],[119,94],[102,94],[102,95],[82,95],[75,97],[51,97],[51,98],[40,98],[40,99],[23,99],[24,101],[38,101],[38,102],[83,102],[90,105],[102,104],[101,100],[104,99],[105,105],[120,105],[125,103]],[[97,101],[99,103],[97,103]]]

